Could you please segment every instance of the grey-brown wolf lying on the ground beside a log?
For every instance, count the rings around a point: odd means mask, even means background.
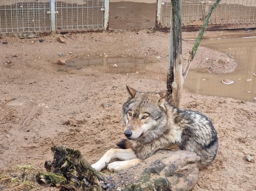
[[[209,118],[182,110],[166,100],[167,90],[140,92],[127,86],[130,95],[122,107],[124,139],[118,149],[108,150],[92,167],[120,171],[147,159],[159,149],[177,145],[200,156],[200,170],[209,166],[218,149],[217,133]],[[118,160],[110,163],[112,160]]]

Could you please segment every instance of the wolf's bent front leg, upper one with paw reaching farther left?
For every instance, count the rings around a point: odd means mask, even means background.
[[[120,149],[120,148],[112,148],[109,149],[101,159],[92,165],[92,167],[97,170],[101,171],[102,169],[106,168],[109,162],[113,159],[119,159],[122,161],[136,159],[136,155],[132,149]]]

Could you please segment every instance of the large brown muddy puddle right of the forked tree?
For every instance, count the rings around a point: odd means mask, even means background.
[[[196,94],[256,102],[256,37],[203,40],[200,45],[234,57],[239,66],[226,74],[190,70],[184,88]],[[234,83],[226,85],[222,83],[224,79]]]

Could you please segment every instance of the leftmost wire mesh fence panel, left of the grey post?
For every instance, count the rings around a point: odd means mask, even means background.
[[[0,33],[50,31],[49,0],[1,0]]]

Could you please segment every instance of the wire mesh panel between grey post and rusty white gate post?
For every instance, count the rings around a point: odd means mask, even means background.
[[[103,29],[103,0],[58,0],[56,27],[60,31]]]

